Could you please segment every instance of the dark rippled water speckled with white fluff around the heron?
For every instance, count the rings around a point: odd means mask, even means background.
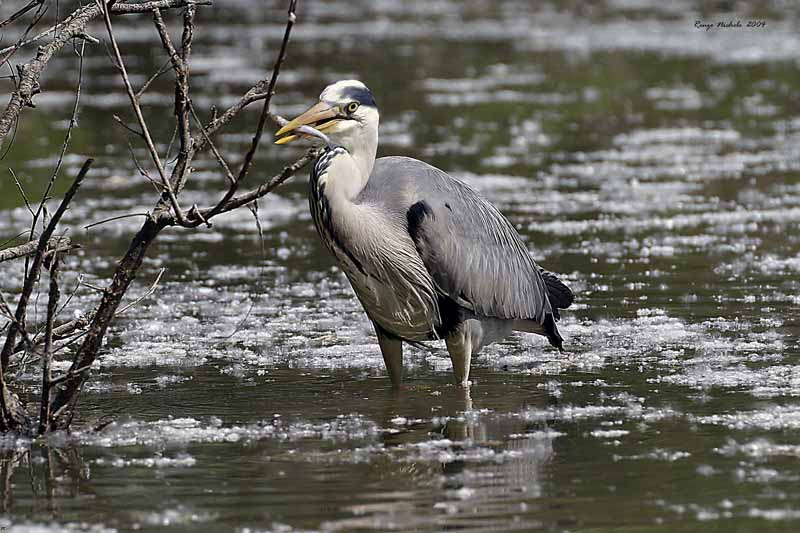
[[[278,111],[304,109],[332,80],[364,80],[381,154],[474,185],[564,274],[578,294],[561,326],[567,353],[508,339],[474,362],[467,394],[443,347],[410,349],[408,387],[392,393],[371,326],[313,232],[303,172],[261,202],[263,252],[246,211],[162,235],[131,299],[161,268],[163,282],[117,322],[74,433],[4,441],[0,526],[796,530],[796,6],[300,3]],[[736,18],[767,29],[694,27]],[[249,0],[199,10],[204,116],[270,68],[282,19],[280,5]],[[117,25],[142,83],[164,61],[149,17]],[[53,60],[2,160],[33,197],[76,68],[66,51]],[[171,98],[166,76],[146,99],[162,150]],[[87,47],[81,102],[64,174],[98,162],[66,217],[83,245],[67,262],[102,284],[140,220],[83,226],[144,212],[153,192],[111,119],[129,112],[100,45]],[[231,162],[256,116],[221,135]],[[265,145],[251,183],[300,150]],[[195,166],[184,204],[208,204],[224,179],[211,160]],[[11,237],[28,215],[2,172]],[[15,268],[0,265],[7,294]],[[83,287],[68,313],[95,300]],[[35,392],[36,366],[15,371]]]

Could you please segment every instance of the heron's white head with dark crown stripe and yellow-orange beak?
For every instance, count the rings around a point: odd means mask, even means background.
[[[308,137],[297,131],[301,126],[325,133],[333,143],[354,153],[377,144],[378,108],[372,92],[360,81],[337,81],[325,87],[318,103],[278,130],[275,144]]]

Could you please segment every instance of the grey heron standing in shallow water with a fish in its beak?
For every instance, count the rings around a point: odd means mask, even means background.
[[[324,132],[311,170],[312,217],[375,327],[392,384],[402,382],[404,342],[444,339],[461,386],[473,355],[512,331],[538,333],[561,350],[556,320],[572,291],[469,185],[409,157],[376,159],[378,119],[366,85],[343,80],[275,142]]]

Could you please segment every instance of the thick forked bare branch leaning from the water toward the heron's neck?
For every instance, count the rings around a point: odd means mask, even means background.
[[[205,128],[201,128],[201,135],[195,139],[190,138],[188,135],[190,132],[188,132],[186,128],[187,124],[182,122],[186,119],[191,119],[189,114],[193,113],[191,102],[188,99],[188,70],[182,71],[182,69],[187,69],[186,63],[191,51],[193,10],[187,10],[184,15],[184,33],[181,41],[182,50],[180,53],[175,50],[174,45],[169,39],[166,27],[163,25],[163,20],[159,20],[161,18],[160,14],[154,13],[154,21],[156,28],[159,30],[159,35],[162,38],[162,45],[164,45],[171,58],[173,70],[176,71],[176,115],[178,116],[178,131],[176,136],[180,139],[181,149],[179,150],[175,166],[168,180],[169,188],[167,188],[165,184],[165,190],[174,195],[175,202],[173,202],[173,198],[170,197],[170,195],[162,195],[155,209],[145,219],[144,224],[131,240],[127,252],[117,264],[111,282],[103,291],[100,303],[93,311],[93,316],[85,334],[81,334],[83,335],[83,341],[75,353],[69,371],[63,376],[53,380],[53,385],[57,385],[57,389],[53,391],[54,396],[51,408],[51,419],[54,421],[54,424],[61,425],[62,427],[69,424],[69,420],[75,410],[75,404],[78,401],[80,390],[88,379],[89,369],[98,357],[109,324],[115,316],[128,308],[125,307],[121,311],[117,311],[126,291],[141,268],[142,261],[150,245],[160,232],[169,225],[197,227],[199,224],[206,222],[210,218],[209,215],[227,212],[237,207],[250,204],[288,180],[297,170],[311,162],[318,155],[316,150],[310,150],[304,157],[300,158],[292,165],[287,166],[281,173],[266,181],[258,188],[245,194],[235,195],[236,187],[238,187],[239,182],[247,175],[248,170],[252,166],[267,118],[274,118],[269,112],[270,99],[275,90],[280,67],[286,55],[291,28],[295,22],[295,5],[296,0],[290,0],[289,17],[284,33],[284,40],[281,44],[281,49],[276,59],[270,80],[259,82],[245,94],[239,103],[235,104],[222,116],[215,116]],[[153,9],[154,8],[151,7],[150,11],[153,11]],[[106,21],[107,30],[109,30],[109,37],[112,39],[112,44],[114,44],[117,62],[120,64],[122,70],[124,69],[124,65],[122,64],[118,47],[116,47],[113,40],[113,30],[111,30],[108,13],[103,13],[103,16]],[[185,79],[183,78],[184,74],[187,74]],[[186,84],[185,87],[183,86],[184,81]],[[133,93],[129,81],[126,82],[126,89],[128,90],[131,103],[134,105],[134,110],[136,110],[136,95]],[[182,218],[183,215],[181,211],[175,209],[175,207],[177,207],[177,195],[180,194],[189,177],[192,158],[204,146],[213,145],[211,141],[212,134],[232,120],[241,109],[249,103],[256,101],[256,99],[265,100],[264,108],[262,109],[253,141],[251,142],[250,149],[245,157],[245,162],[242,165],[239,175],[233,177],[233,173],[230,172],[230,169],[226,169],[226,177],[230,183],[228,193],[223,197],[223,201],[218,202],[216,206],[206,209],[196,209],[193,207],[192,210],[186,213],[185,218]],[[138,110],[138,114],[139,116],[137,116],[137,119],[141,116],[140,109]],[[147,128],[143,118],[140,120],[140,126],[142,127],[143,134],[149,137],[149,133],[146,133]],[[150,146],[148,146],[148,149],[150,149]],[[218,161],[225,169],[227,164],[216,150],[216,147],[212,151],[215,152],[215,157],[219,156]],[[154,149],[151,149],[151,152],[154,152]],[[152,155],[153,153],[151,153],[151,156]],[[158,156],[155,154],[154,161],[157,161],[157,158]],[[163,167],[160,170],[163,170]],[[161,176],[161,180],[162,182],[165,181],[163,175]],[[233,190],[233,192],[230,192],[231,190]],[[158,279],[156,280],[156,283],[157,282]],[[148,291],[146,295],[149,293],[150,291]],[[55,328],[55,330],[58,329],[59,328]]]

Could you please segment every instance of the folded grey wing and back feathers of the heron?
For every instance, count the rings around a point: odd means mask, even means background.
[[[514,227],[465,183],[415,159],[386,157],[363,194],[403,212],[437,289],[462,307],[540,324],[553,314],[545,280]]]

